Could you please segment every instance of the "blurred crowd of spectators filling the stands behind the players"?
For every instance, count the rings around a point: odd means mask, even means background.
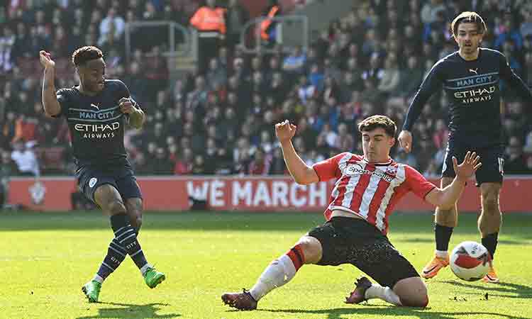
[[[294,146],[311,164],[340,151],[362,152],[356,123],[385,114],[401,127],[409,101],[429,68],[456,50],[449,30],[460,11],[488,24],[483,47],[504,52],[532,85],[531,1],[353,1],[353,11],[314,37],[309,50],[247,55],[226,37],[205,70],[170,80],[164,42],[133,30],[126,63],[125,23],[170,20],[189,25],[193,0],[18,0],[0,8],[0,178],[71,174],[66,121],[46,118],[40,102],[39,50],[56,60],[57,88],[77,85],[72,51],[97,45],[108,78],[126,83],[148,114],[145,128],[128,130],[126,148],[137,174],[284,174],[274,124],[297,124]],[[89,4],[90,3],[90,4]],[[249,14],[224,1],[228,32]],[[161,35],[165,36],[165,35]],[[159,41],[159,42],[157,42]],[[531,101],[504,91],[506,174],[532,173]],[[414,152],[395,147],[394,159],[428,176],[440,173],[448,109],[433,96],[414,128]]]

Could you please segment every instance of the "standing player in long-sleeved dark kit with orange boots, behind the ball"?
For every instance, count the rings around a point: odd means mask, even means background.
[[[476,178],[482,212],[478,228],[482,245],[493,256],[501,226],[499,191],[504,174],[499,80],[509,84],[523,101],[532,101],[532,92],[509,67],[501,52],[480,47],[486,24],[477,13],[460,13],[451,28],[459,50],[436,62],[421,84],[406,114],[399,144],[406,152],[412,150],[411,129],[428,98],[443,87],[450,101],[450,134],[441,186],[453,181],[453,156],[460,161],[467,150],[480,155],[482,167]],[[449,263],[449,240],[458,221],[456,205],[451,211],[436,208],[435,219],[436,254],[423,269],[421,276],[426,279],[436,276]],[[499,282],[493,267],[483,280]]]

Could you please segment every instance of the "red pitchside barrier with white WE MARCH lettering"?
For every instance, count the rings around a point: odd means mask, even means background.
[[[438,180],[431,179],[438,185]],[[299,185],[289,177],[138,177],[144,206],[150,211],[186,211],[192,198],[206,201],[207,208],[218,211],[323,211],[334,181]],[[504,213],[527,212],[528,190],[532,177],[507,177],[501,191]],[[77,191],[71,177],[28,177],[11,179],[9,203],[35,211],[68,211],[70,198]],[[460,211],[480,211],[478,189],[467,183],[459,201]],[[399,201],[396,211],[431,211],[433,207],[414,194]]]

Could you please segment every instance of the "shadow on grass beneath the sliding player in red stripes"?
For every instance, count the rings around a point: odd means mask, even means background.
[[[365,306],[361,305],[355,308],[331,308],[320,310],[304,310],[304,309],[260,309],[256,311],[264,311],[270,313],[294,313],[301,315],[304,318],[304,314],[313,315],[325,315],[324,319],[340,319],[345,318],[344,315],[393,315],[397,317],[415,317],[420,319],[458,319],[458,318],[470,318],[471,315],[482,315],[483,318],[507,318],[507,319],[526,319],[524,317],[516,317],[514,315],[506,315],[503,313],[491,313],[482,311],[469,311],[469,312],[431,312],[431,308],[406,308],[396,306]],[[298,316],[299,318],[299,316]]]

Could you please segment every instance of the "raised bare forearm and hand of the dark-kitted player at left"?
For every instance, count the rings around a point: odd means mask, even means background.
[[[55,95],[55,62],[50,53],[39,52],[40,64],[45,68],[43,76],[43,107],[47,116],[57,116],[61,113],[61,104]]]

